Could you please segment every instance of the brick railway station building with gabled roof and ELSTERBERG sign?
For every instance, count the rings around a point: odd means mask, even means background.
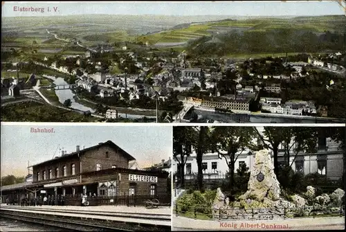
[[[112,141],[37,163],[33,181],[1,187],[2,202],[40,195],[64,196],[66,205],[79,205],[82,195],[91,204],[131,204],[145,199],[170,202],[168,172],[129,168],[136,159]],[[142,200],[143,199],[143,200]]]

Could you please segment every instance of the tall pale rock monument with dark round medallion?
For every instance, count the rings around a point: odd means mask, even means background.
[[[255,163],[248,181],[248,191],[239,199],[254,199],[262,202],[264,197],[273,201],[280,198],[280,184],[274,173],[273,162],[268,150],[256,152]]]

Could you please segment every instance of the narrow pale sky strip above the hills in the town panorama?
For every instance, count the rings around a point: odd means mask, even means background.
[[[20,12],[17,7],[44,8],[44,12]],[[345,7],[345,3],[343,3]],[[50,11],[48,12],[48,7]],[[18,9],[18,8],[17,8]],[[337,1],[6,1],[2,17],[53,15],[239,15],[239,16],[313,16],[345,15]]]

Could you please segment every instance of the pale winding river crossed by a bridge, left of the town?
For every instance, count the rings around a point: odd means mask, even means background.
[[[56,85],[69,85],[64,78],[55,78],[53,75],[42,75],[44,78],[49,78],[51,80],[53,80],[53,83]],[[71,108],[73,109],[79,109],[82,111],[91,111],[91,113],[95,113],[94,109],[91,109],[89,107],[86,107],[78,102],[75,102],[75,99],[73,98],[73,96],[75,96],[75,94],[71,91],[71,89],[60,89],[55,91],[55,94],[57,95],[57,98],[59,98],[59,101],[61,103],[64,103],[65,100],[67,99],[71,99]],[[143,117],[147,117],[147,118],[156,118],[155,116],[145,116],[145,115],[140,115],[140,114],[122,114],[119,113],[118,114],[120,117],[122,118],[131,118],[131,119],[136,119],[136,118],[143,118]]]

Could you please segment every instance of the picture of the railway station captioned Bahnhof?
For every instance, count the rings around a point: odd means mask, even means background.
[[[172,127],[1,123],[1,231],[170,231]]]

